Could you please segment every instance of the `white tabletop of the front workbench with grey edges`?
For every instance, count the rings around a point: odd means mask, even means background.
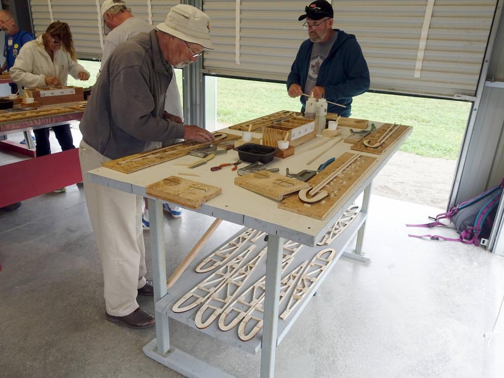
[[[382,125],[380,122],[374,123],[377,127]],[[349,134],[348,128],[341,128],[341,130],[343,137]],[[224,130],[224,132],[227,131],[231,134],[239,133],[234,130]],[[178,175],[179,172],[199,174],[201,177],[184,175],[180,177],[219,186],[222,188],[222,195],[217,196],[216,198],[203,204],[197,212],[275,234],[288,240],[298,241],[305,245],[313,246],[316,240],[318,241],[322,237],[326,230],[336,222],[348,206],[350,206],[358,195],[362,193],[365,187],[371,183],[374,176],[399,149],[410,133],[411,130],[393,143],[382,155],[362,153],[364,155],[376,157],[376,162],[372,164],[363,177],[358,179],[349,193],[347,193],[344,198],[338,202],[337,206],[333,208],[324,220],[318,220],[278,209],[277,201],[234,185],[234,177],[236,177],[237,173],[236,171],[231,171],[230,167],[214,172],[210,171],[210,167],[222,163],[237,161],[238,153],[233,150],[228,151],[228,153],[224,155],[217,155],[208,163],[194,169],[174,165],[185,163],[190,164],[200,159],[187,155],[130,174],[101,167],[89,171],[88,177],[92,182],[113,187],[123,192],[146,197],[145,188],[153,182],[159,181],[171,175]],[[256,134],[254,137],[261,138],[261,134]],[[289,168],[291,173],[297,173],[303,169],[316,170],[320,164],[332,157],[337,158],[344,152],[357,153],[357,151],[350,150],[351,144],[341,141],[330,151],[313,161],[313,163],[306,165],[308,160],[334,143],[333,141],[330,141],[319,148],[314,150],[310,149],[310,147],[316,146],[324,140],[327,139],[317,137],[316,139],[310,140],[309,142],[296,147],[295,154],[293,156],[286,159],[275,158],[273,162],[269,164],[268,168],[279,168],[280,174],[285,174],[286,168]],[[242,168],[245,165],[246,163],[242,163],[238,168]]]

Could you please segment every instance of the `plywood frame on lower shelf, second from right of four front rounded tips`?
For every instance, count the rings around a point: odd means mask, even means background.
[[[287,241],[284,243],[282,258],[282,273],[285,272],[296,252],[302,244]],[[257,280],[254,285],[246,289],[237,299],[235,299],[222,312],[219,318],[219,328],[222,331],[229,331],[237,326],[245,318],[248,310],[254,308],[259,301],[264,299],[266,293],[266,275]]]

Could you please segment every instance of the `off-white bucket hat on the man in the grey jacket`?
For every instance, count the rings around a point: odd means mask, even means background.
[[[210,17],[191,5],[174,6],[165,22],[156,25],[156,29],[186,42],[197,43],[208,49],[214,48],[210,40]]]

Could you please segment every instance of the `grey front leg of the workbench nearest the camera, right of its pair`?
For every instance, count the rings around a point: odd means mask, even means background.
[[[273,378],[275,375],[278,298],[280,297],[283,243],[283,238],[273,234],[268,235],[261,378]]]

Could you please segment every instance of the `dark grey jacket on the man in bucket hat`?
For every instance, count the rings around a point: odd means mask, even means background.
[[[88,98],[80,129],[84,142],[109,159],[170,144],[183,124],[163,119],[165,94],[173,76],[159,49],[156,31],[121,43]]]

